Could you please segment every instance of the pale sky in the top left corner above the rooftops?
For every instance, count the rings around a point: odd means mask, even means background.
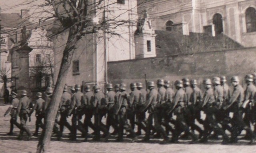
[[[49,16],[42,13],[42,8],[38,4],[42,4],[44,0],[0,0],[1,13],[19,13],[21,9],[30,10],[30,22],[38,22],[39,18]]]

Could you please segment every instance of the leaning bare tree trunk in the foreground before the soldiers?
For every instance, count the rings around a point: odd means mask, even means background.
[[[50,144],[52,129],[54,126],[56,114],[58,112],[58,107],[60,105],[63,87],[66,83],[66,77],[75,51],[75,46],[78,41],[78,39],[75,37],[76,34],[74,31],[75,29],[70,28],[68,33],[68,40],[63,52],[60,72],[58,74],[58,78],[56,81],[51,101],[47,108],[48,111],[46,111],[46,117],[44,120],[45,128],[43,129],[42,134],[40,136],[36,153],[46,153]]]

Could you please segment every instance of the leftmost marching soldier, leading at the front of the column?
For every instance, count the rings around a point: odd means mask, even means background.
[[[20,129],[20,124],[17,122],[17,108],[19,105],[19,99],[17,98],[17,93],[12,91],[12,103],[10,107],[4,113],[4,117],[10,112],[11,119],[10,119],[10,132],[7,135],[13,135],[13,127],[16,125]]]

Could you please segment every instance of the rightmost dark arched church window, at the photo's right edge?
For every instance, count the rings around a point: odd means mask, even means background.
[[[247,32],[256,31],[256,11],[254,8],[247,8],[245,12]]]

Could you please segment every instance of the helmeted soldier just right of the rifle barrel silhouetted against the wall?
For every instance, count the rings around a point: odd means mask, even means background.
[[[147,131],[146,135],[143,139],[143,141],[149,141],[150,139],[150,130],[152,129],[152,122],[154,119],[154,128],[157,133],[159,133],[164,140],[161,143],[167,143],[168,141],[168,135],[165,133],[164,129],[161,127],[161,120],[160,120],[160,114],[161,114],[161,101],[162,95],[158,94],[158,91],[154,89],[154,82],[149,81],[148,82],[148,89],[149,93],[146,97],[146,103],[144,104],[144,108],[142,111],[148,110],[149,116],[147,119]]]

